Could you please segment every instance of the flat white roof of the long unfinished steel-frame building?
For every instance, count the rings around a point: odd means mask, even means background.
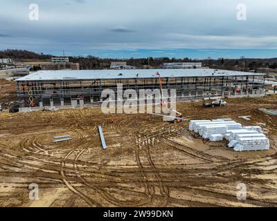
[[[157,77],[211,77],[211,76],[262,76],[260,73],[247,73],[232,70],[196,69],[134,69],[134,70],[40,70],[16,79],[16,81],[80,80],[80,79],[127,79]],[[120,75],[122,74],[122,75]]]

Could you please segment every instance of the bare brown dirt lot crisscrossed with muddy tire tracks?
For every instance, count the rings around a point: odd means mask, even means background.
[[[99,108],[0,113],[0,206],[277,206],[277,97],[229,99],[222,108],[184,102],[188,119],[231,117],[266,123],[269,151],[236,153],[206,142],[188,122],[151,115],[102,114]],[[238,118],[251,115],[251,121]],[[105,134],[100,144],[97,126]],[[53,144],[53,137],[73,140]],[[29,185],[39,200],[29,199]],[[238,184],[247,200],[238,200]]]

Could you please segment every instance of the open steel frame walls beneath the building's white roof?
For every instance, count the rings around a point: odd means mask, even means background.
[[[209,76],[209,77],[162,77],[164,89],[175,89],[177,101],[189,101],[204,97],[247,97],[265,95],[263,75]],[[159,89],[159,78],[120,79],[64,79],[64,80],[17,80],[17,97],[21,108],[44,106],[84,106],[101,103],[105,89],[114,90],[122,84],[123,91],[134,89]],[[33,101],[33,102],[30,102]]]

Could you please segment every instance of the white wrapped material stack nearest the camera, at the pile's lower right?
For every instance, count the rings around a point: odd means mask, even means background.
[[[234,151],[262,151],[269,150],[269,140],[267,137],[239,138]]]

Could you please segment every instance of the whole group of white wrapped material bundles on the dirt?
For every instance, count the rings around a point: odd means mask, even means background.
[[[211,142],[229,141],[234,151],[260,151],[269,149],[269,139],[260,126],[242,126],[232,119],[191,120],[189,130]]]

